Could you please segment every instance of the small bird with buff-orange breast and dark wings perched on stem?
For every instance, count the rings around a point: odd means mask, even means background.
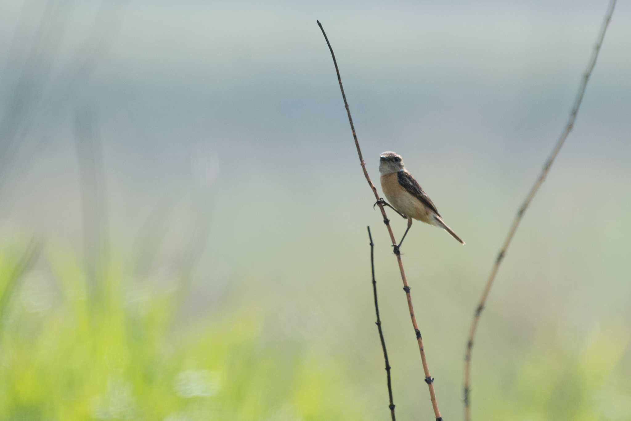
[[[412,218],[443,228],[464,245],[464,241],[442,220],[442,216],[436,210],[432,199],[427,196],[412,174],[405,169],[401,155],[394,152],[384,152],[379,158],[381,189],[390,203],[383,201],[383,199],[377,203],[390,206],[399,215],[408,219],[408,229],[405,230],[401,242],[395,247],[395,252],[398,252],[403,239],[408,234],[412,226]]]

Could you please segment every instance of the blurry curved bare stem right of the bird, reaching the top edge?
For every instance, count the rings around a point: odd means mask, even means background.
[[[545,181],[548,172],[550,172],[550,167],[554,162],[555,158],[557,158],[558,152],[561,150],[563,143],[565,143],[565,139],[570,134],[570,131],[574,128],[574,122],[576,121],[576,116],[579,112],[579,108],[581,107],[581,102],[583,99],[583,95],[585,94],[585,89],[587,87],[587,81],[589,81],[589,77],[596,66],[596,59],[598,58],[598,53],[600,51],[601,45],[603,45],[604,34],[606,33],[609,22],[611,21],[611,15],[613,15],[613,9],[615,8],[616,0],[611,0],[609,6],[607,8],[607,13],[604,16],[603,24],[601,25],[600,32],[598,34],[598,39],[596,40],[596,45],[592,52],[591,58],[589,59],[589,64],[587,64],[587,69],[582,76],[581,86],[579,86],[579,92],[576,95],[576,99],[574,100],[574,105],[572,106],[572,111],[570,112],[570,117],[565,124],[565,129],[561,133],[560,138],[557,140],[557,144],[553,148],[552,152],[548,159],[546,159],[543,169],[541,170],[541,174],[534,182],[533,187],[531,187],[524,203],[517,210],[517,215],[513,220],[512,225],[510,226],[509,232],[504,240],[504,244],[500,249],[500,252],[497,254],[497,258],[495,259],[495,263],[493,264],[493,269],[491,270],[491,274],[488,277],[487,284],[484,287],[482,292],[482,296],[480,298],[480,302],[476,307],[475,314],[473,316],[473,321],[471,321],[471,328],[469,328],[469,338],[466,344],[466,353],[464,355],[464,420],[471,420],[471,352],[473,350],[473,340],[475,338],[476,329],[478,327],[478,322],[480,321],[480,315],[484,309],[485,303],[487,302],[488,294],[493,286],[493,281],[495,281],[495,276],[497,275],[497,271],[502,263],[502,260],[506,256],[506,252],[510,246],[510,242],[512,241],[515,232],[517,231],[517,227],[519,227],[519,223],[526,212],[526,209],[530,205],[531,201],[533,201],[534,195]]]

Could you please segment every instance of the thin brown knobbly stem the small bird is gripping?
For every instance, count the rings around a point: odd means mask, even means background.
[[[335,71],[338,74],[338,83],[339,90],[342,93],[342,99],[344,100],[344,106],[346,107],[346,115],[348,116],[348,122],[351,126],[351,132],[353,133],[353,139],[355,140],[355,148],[357,148],[357,155],[359,157],[360,165],[362,165],[363,175],[366,177],[366,181],[368,182],[370,189],[372,189],[372,193],[375,195],[375,199],[379,201],[379,193],[377,193],[377,188],[372,181],[370,181],[370,176],[366,170],[366,164],[363,162],[362,150],[359,147],[359,141],[357,140],[357,134],[355,133],[355,126],[353,125],[353,117],[351,117],[350,109],[348,108],[348,102],[346,101],[346,94],[344,93],[344,86],[342,85],[342,78],[339,76],[339,68],[338,62],[335,59],[335,54],[333,52],[333,48],[331,47],[331,43],[329,42],[326,33],[324,32],[324,28],[322,28],[322,24],[320,21],[317,21],[320,30],[322,31],[322,35],[324,35],[324,40],[326,40],[326,44],[329,46],[329,51],[331,51],[331,57],[333,58],[333,65],[335,66]],[[392,246],[396,246],[397,242],[394,239],[394,234],[392,234],[392,228],[390,227],[390,220],[387,218],[386,210],[384,209],[384,205],[382,203],[377,203],[379,206],[379,210],[381,211],[381,215],[384,218],[384,223],[386,224],[386,228],[388,230],[388,234],[390,235],[390,240],[392,241]],[[410,295],[410,287],[408,286],[408,280],[405,276],[405,271],[403,270],[403,262],[401,261],[401,253],[398,252],[398,249],[395,248],[395,254],[397,258],[397,262],[399,264],[399,272],[401,273],[401,280],[403,280],[403,290],[405,291],[406,299],[408,300],[408,310],[410,311],[410,319],[412,321],[412,326],[414,328],[414,332],[416,335],[416,342],[418,343],[418,350],[421,354],[421,362],[423,364],[423,372],[425,373],[425,382],[430,391],[430,400],[432,401],[432,408],[434,415],[437,421],[442,421],[442,417],[440,417],[440,411],[438,408],[438,402],[436,400],[436,393],[433,387],[433,377],[430,376],[430,369],[427,365],[427,358],[425,357],[425,348],[423,348],[423,338],[421,336],[421,331],[418,329],[418,324],[416,323],[416,316],[414,315],[414,307],[412,305],[412,297]]]

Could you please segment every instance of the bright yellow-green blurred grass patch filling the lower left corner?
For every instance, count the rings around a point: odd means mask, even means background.
[[[365,419],[341,362],[266,346],[254,309],[181,329],[178,294],[126,299],[110,263],[93,299],[78,262],[57,254],[48,263],[64,298],[28,312],[12,287],[20,259],[0,252],[2,420]]]

